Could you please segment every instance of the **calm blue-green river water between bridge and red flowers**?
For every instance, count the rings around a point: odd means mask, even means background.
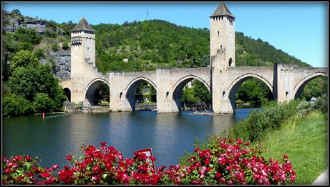
[[[152,148],[155,165],[176,165],[184,151],[192,152],[196,137],[205,140],[221,133],[251,109],[239,109],[234,115],[189,115],[136,111],[123,113],[81,113],[42,120],[40,115],[3,117],[2,154],[6,157],[27,154],[39,156],[42,167],[52,164],[63,168],[69,154],[81,156],[80,145],[100,146],[107,142],[131,158],[139,149]]]

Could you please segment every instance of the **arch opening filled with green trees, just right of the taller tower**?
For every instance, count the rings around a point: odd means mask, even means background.
[[[246,76],[231,88],[228,99],[235,112],[236,108],[258,108],[274,100],[274,95],[264,81],[254,76]]]

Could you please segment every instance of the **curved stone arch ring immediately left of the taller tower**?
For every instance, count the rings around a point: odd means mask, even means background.
[[[201,79],[201,77],[199,76],[195,76],[195,75],[188,75],[188,76],[184,76],[181,79],[179,79],[174,86],[172,87],[173,89],[173,100],[175,101],[176,106],[178,107],[178,111],[181,111],[181,93],[182,90],[184,88],[184,86],[187,85],[187,83],[189,83],[192,80],[198,80],[201,81],[201,83],[203,83],[203,85],[207,88],[207,90],[210,92],[211,87],[210,85],[204,80]]]

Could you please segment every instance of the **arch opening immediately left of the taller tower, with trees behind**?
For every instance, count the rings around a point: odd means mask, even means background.
[[[212,98],[210,89],[205,83],[192,77],[184,79],[173,92],[178,111],[211,111]]]

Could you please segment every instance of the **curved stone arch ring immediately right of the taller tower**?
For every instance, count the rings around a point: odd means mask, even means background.
[[[230,101],[230,105],[233,108],[233,111],[235,111],[235,108],[236,108],[235,93],[237,91],[237,88],[239,88],[239,86],[241,86],[242,83],[244,83],[244,81],[246,81],[247,79],[252,78],[252,77],[259,79],[260,81],[265,83],[267,85],[267,87],[269,88],[269,90],[272,92],[272,95],[274,98],[273,86],[271,83],[269,83],[269,81],[267,81],[267,79],[265,79],[264,77],[262,77],[258,74],[253,74],[253,73],[242,74],[241,76],[238,76],[232,83],[230,83],[230,86],[227,88],[226,92],[222,93],[223,101],[226,101],[226,99],[228,98]]]

